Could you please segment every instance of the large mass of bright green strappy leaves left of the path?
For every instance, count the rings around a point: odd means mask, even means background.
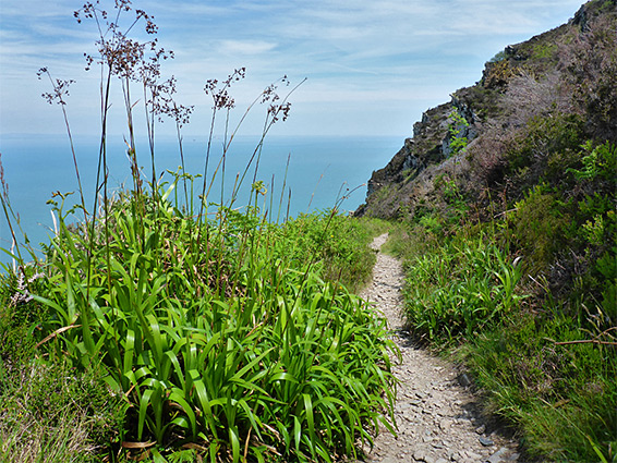
[[[101,362],[98,387],[125,398],[124,441],[158,452],[194,442],[233,461],[355,454],[389,426],[394,344],[385,321],[319,268],[341,275],[368,235],[331,211],[275,226],[255,207],[221,208],[199,230],[169,191],[110,204],[95,227],[108,244],[90,256],[59,210],[32,293],[46,307],[41,349],[77,371]]]

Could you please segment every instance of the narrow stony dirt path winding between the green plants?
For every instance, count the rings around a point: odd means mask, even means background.
[[[387,234],[373,243],[379,249]],[[517,443],[495,431],[477,411],[469,379],[452,365],[413,344],[402,331],[403,270],[394,257],[377,254],[373,283],[363,296],[388,319],[402,362],[394,358],[400,380],[396,403],[398,437],[384,431],[368,452],[370,462],[520,462]]]

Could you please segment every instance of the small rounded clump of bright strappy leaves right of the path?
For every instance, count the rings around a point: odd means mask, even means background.
[[[427,341],[471,339],[518,307],[520,269],[482,237],[450,241],[408,267],[407,321]]]

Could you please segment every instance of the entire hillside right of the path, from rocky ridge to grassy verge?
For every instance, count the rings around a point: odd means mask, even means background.
[[[458,352],[542,460],[617,459],[616,31],[597,0],[507,47],[359,210],[399,223],[412,332]]]

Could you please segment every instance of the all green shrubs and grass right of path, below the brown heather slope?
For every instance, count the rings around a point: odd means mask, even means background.
[[[432,206],[401,224],[407,321],[422,340],[465,354],[492,410],[516,424],[532,455],[615,461],[615,147],[583,143],[578,117],[528,129],[508,145],[495,199],[473,205],[457,179],[437,175]],[[486,223],[470,217],[480,207]],[[513,296],[499,275],[515,276]]]

